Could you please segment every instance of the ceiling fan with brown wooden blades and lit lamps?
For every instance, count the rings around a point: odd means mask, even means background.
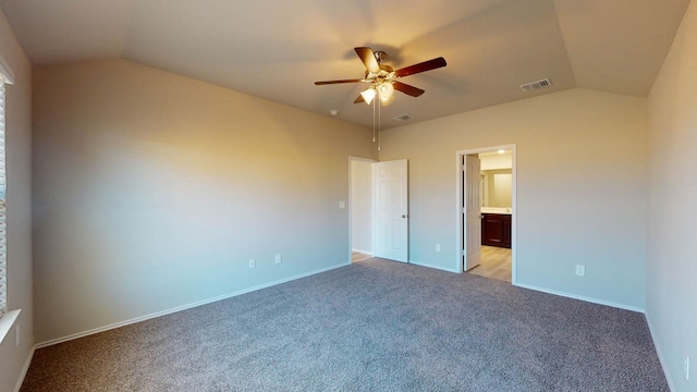
[[[388,106],[394,101],[394,90],[402,91],[412,97],[418,97],[425,93],[420,88],[399,82],[398,78],[447,65],[445,59],[440,57],[394,71],[392,66],[382,63],[387,58],[386,52],[381,50],[374,52],[372,49],[368,47],[358,47],[355,48],[355,51],[366,66],[364,78],[315,82],[315,85],[368,83],[370,86],[366,90],[360,91],[360,95],[354,103],[366,102],[370,105],[377,96],[382,106]]]

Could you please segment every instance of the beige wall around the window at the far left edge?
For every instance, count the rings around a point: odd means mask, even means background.
[[[14,390],[34,346],[32,302],[32,65],[0,11],[0,57],[15,83],[7,88],[8,305],[22,309],[0,344],[0,391]]]

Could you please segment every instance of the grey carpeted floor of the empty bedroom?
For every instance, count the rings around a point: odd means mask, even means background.
[[[668,391],[644,315],[394,261],[35,353],[22,391]]]

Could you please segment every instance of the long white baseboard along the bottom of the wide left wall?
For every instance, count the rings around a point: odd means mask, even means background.
[[[178,313],[178,311],[195,308],[197,306],[207,305],[207,304],[211,304],[211,303],[215,303],[215,302],[218,302],[218,301],[228,299],[228,298],[231,298],[231,297],[234,297],[234,296],[237,296],[237,295],[242,295],[242,294],[246,294],[246,293],[250,293],[250,292],[254,292],[254,291],[257,291],[257,290],[271,287],[271,286],[274,286],[277,284],[294,281],[296,279],[307,278],[307,277],[310,277],[310,275],[314,275],[314,274],[317,274],[317,273],[327,272],[327,271],[330,271],[330,270],[333,270],[333,269],[337,269],[337,268],[341,268],[341,267],[346,267],[346,266],[350,266],[350,265],[351,265],[351,261],[342,262],[342,264],[334,265],[334,266],[331,266],[331,267],[321,268],[321,269],[318,269],[318,270],[314,270],[314,271],[306,272],[306,273],[301,273],[301,274],[293,275],[293,277],[290,277],[290,278],[284,278],[284,279],[281,279],[281,280],[273,281],[273,282],[259,284],[259,285],[256,285],[256,286],[253,286],[253,287],[248,287],[248,289],[243,289],[243,290],[240,290],[240,291],[236,291],[236,292],[233,292],[233,293],[223,294],[223,295],[220,295],[220,296],[217,296],[217,297],[212,297],[212,298],[208,298],[208,299],[204,299],[204,301],[198,301],[198,302],[195,302],[195,303],[192,303],[192,304],[178,306],[178,307],[174,307],[174,308],[171,308],[171,309],[167,309],[167,310],[156,311],[154,314],[149,314],[149,315],[132,318],[132,319],[129,319],[129,320],[125,320],[125,321],[114,322],[114,323],[109,324],[109,326],[95,328],[95,329],[91,329],[91,330],[88,330],[88,331],[84,331],[84,332],[73,333],[73,334],[70,334],[68,336],[52,339],[50,341],[37,343],[35,347],[36,348],[44,348],[44,347],[51,346],[51,345],[54,345],[54,344],[59,344],[59,343],[72,341],[72,340],[75,340],[75,339],[93,335],[93,334],[96,334],[96,333],[99,333],[99,332],[105,332],[105,331],[109,331],[109,330],[112,330],[112,329],[130,326],[132,323],[146,321],[146,320],[154,319],[154,318],[157,318],[157,317],[162,317],[162,316],[170,315],[170,314],[173,314],[173,313]]]

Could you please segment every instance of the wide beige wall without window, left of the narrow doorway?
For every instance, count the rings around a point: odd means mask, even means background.
[[[39,342],[348,262],[369,130],[124,60],[34,77]]]

